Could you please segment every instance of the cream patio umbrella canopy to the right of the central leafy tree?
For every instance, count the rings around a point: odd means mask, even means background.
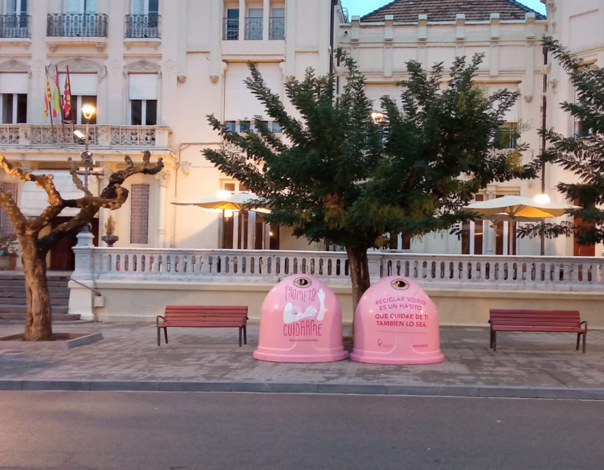
[[[488,201],[472,202],[462,207],[493,222],[534,222],[558,217],[579,206],[559,202],[539,202],[523,196],[503,196]]]

